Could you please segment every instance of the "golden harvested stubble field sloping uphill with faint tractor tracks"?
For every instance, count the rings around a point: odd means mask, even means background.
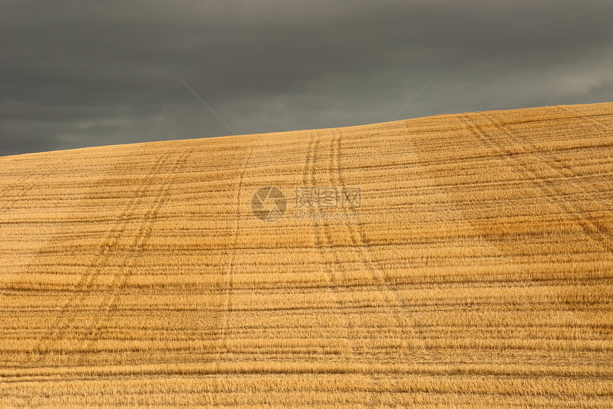
[[[613,104],[0,158],[0,407],[92,405],[613,407]]]

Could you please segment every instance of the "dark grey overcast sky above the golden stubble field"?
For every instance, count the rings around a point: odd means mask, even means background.
[[[0,0],[0,155],[612,102],[612,17],[611,0]]]

